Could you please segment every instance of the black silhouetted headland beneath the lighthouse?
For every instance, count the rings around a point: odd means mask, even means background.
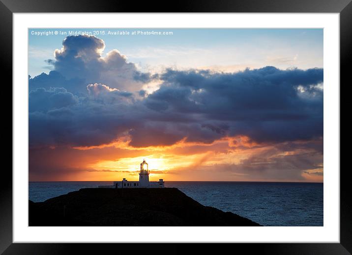
[[[81,189],[34,203],[29,226],[259,226],[176,188]]]

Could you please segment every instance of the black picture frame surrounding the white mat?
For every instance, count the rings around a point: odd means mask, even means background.
[[[122,0],[0,0],[0,59],[2,77],[7,85],[12,84],[12,14],[30,12],[282,12],[282,13],[340,13],[340,84],[349,85],[348,64],[352,59],[352,2],[351,0],[181,0],[175,3],[164,1]],[[4,85],[4,84],[3,84]],[[9,86],[8,93],[12,94]],[[341,85],[340,85],[341,88]],[[7,94],[8,95],[8,94]],[[7,96],[9,97],[9,96]],[[2,101],[3,103],[3,101]],[[341,103],[341,101],[340,101]],[[3,109],[10,111],[6,105]],[[11,117],[12,118],[12,117]],[[341,125],[341,124],[340,124]],[[8,125],[8,127],[12,127]],[[340,126],[341,127],[341,126]],[[12,127],[13,128],[13,127]],[[12,131],[11,128],[11,131]],[[346,134],[345,134],[346,135]],[[8,135],[9,137],[9,135]],[[12,148],[12,146],[11,146]],[[4,152],[9,154],[10,150]],[[12,150],[11,150],[12,153]],[[341,157],[341,156],[340,156]],[[4,158],[10,158],[4,157]],[[113,249],[129,250],[125,244],[13,244],[12,243],[12,170],[3,167],[0,185],[0,253],[8,254],[106,254]],[[339,169],[336,169],[339,170]],[[352,253],[352,181],[350,169],[340,170],[340,243],[297,243],[297,244],[233,244],[235,249],[245,249],[246,253],[260,251],[264,254],[351,254]],[[133,253],[153,249],[133,245]],[[104,247],[103,247],[104,246]],[[183,253],[185,244],[171,244],[168,250],[159,253]],[[118,248],[117,248],[118,247]],[[128,248],[130,247],[130,248]],[[160,246],[158,246],[160,248]],[[217,253],[214,247],[202,245],[207,252]],[[231,248],[234,249],[234,248]],[[104,251],[102,253],[102,251]]]

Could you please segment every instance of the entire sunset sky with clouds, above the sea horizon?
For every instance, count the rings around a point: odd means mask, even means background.
[[[323,182],[322,29],[29,29],[28,60],[29,181],[146,159],[152,181]]]

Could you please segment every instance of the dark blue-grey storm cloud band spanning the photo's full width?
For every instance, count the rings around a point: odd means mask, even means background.
[[[86,86],[86,96],[79,99],[64,89],[36,89],[30,92],[30,125],[36,127],[31,129],[45,127],[39,136],[74,146],[109,143],[123,135],[130,135],[135,147],[182,139],[212,143],[236,135],[257,142],[323,135],[323,91],[317,87],[322,69],[168,70],[161,77],[160,88],[140,93],[142,99],[104,84]]]

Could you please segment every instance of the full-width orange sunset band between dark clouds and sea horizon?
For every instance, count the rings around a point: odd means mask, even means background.
[[[134,148],[128,141],[124,138],[89,148],[31,149],[29,164],[40,162],[40,166],[37,171],[32,167],[30,180],[137,180],[139,163],[146,159],[150,180],[323,181],[323,155],[314,147],[322,140],[258,144],[249,137],[236,136],[211,144],[182,140],[171,146],[146,148]],[[40,169],[46,169],[48,176]]]

